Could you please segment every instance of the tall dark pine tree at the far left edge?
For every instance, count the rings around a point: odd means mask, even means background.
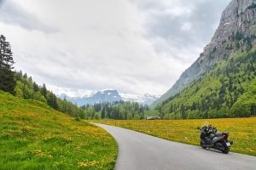
[[[15,64],[11,46],[6,38],[0,36],[0,89],[14,94],[15,72],[12,71]]]

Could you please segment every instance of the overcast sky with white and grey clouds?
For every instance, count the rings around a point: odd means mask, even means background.
[[[230,0],[0,0],[15,69],[56,94],[164,94]]]

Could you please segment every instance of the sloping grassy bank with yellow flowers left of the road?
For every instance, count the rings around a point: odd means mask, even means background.
[[[116,156],[102,128],[0,91],[0,169],[113,169]]]

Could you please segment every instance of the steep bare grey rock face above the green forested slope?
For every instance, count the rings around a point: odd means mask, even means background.
[[[256,0],[232,0],[224,9],[219,26],[211,42],[193,65],[183,72],[181,77],[160,99],[156,106],[173,97],[198,80],[218,62],[229,59],[232,54],[248,51],[255,45],[256,38]]]

